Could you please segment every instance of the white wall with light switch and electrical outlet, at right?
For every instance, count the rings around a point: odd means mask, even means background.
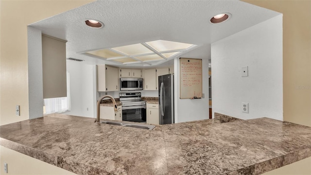
[[[211,65],[213,113],[283,120],[282,15],[212,43]]]

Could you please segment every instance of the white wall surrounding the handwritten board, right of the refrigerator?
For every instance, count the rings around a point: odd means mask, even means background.
[[[202,99],[180,99],[180,67],[179,57],[174,59],[174,111],[175,123],[208,119],[208,58],[210,45],[201,46],[189,53],[181,55],[182,58],[202,59]]]

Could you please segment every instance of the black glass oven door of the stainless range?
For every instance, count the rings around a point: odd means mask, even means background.
[[[146,105],[122,106],[122,121],[146,123]]]

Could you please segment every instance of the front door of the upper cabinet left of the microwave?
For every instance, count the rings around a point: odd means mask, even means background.
[[[106,91],[118,91],[118,68],[106,66]]]

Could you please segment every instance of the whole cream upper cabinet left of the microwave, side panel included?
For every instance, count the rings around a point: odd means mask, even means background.
[[[97,65],[97,90],[99,92],[118,91],[120,89],[118,71],[119,69],[115,67]]]

